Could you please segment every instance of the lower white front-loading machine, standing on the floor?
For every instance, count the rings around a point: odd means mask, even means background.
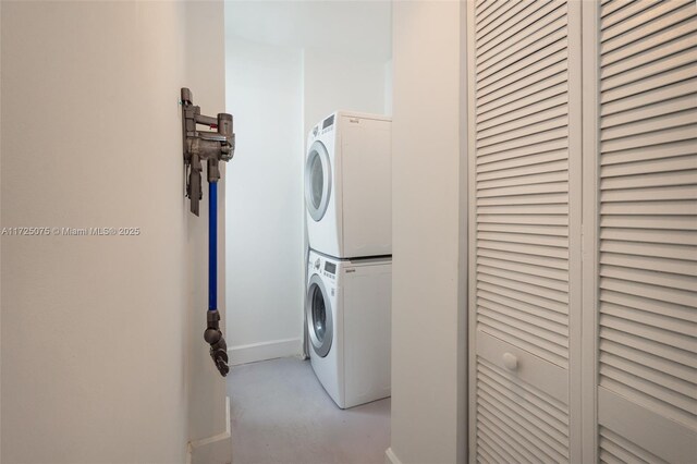
[[[339,407],[390,395],[392,260],[309,253],[310,362]]]

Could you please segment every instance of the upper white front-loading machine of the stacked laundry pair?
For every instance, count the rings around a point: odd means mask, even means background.
[[[307,138],[309,246],[338,258],[392,254],[391,120],[338,111]]]

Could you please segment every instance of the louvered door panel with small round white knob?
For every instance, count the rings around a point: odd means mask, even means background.
[[[468,4],[472,461],[563,463],[574,453],[578,11],[565,1]]]

